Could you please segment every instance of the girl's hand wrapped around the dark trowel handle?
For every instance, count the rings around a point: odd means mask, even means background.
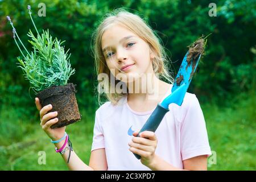
[[[155,158],[155,149],[158,144],[156,135],[152,131],[143,131],[140,137],[136,137],[139,131],[133,133],[133,139],[129,142],[129,150],[141,156],[141,163],[150,166]]]

